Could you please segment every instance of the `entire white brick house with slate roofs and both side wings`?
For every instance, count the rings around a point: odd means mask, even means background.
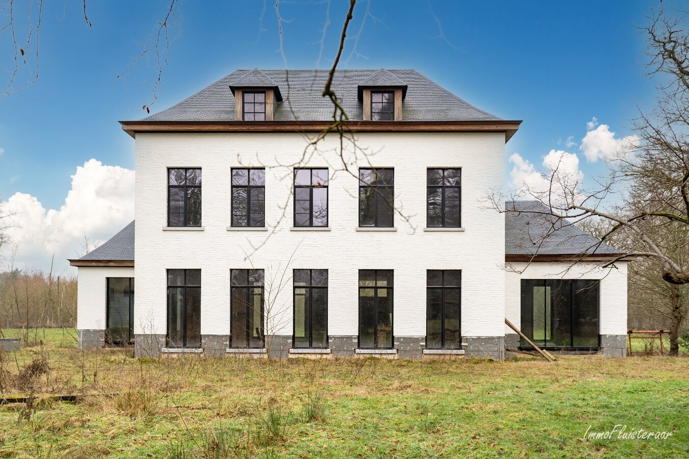
[[[508,317],[548,348],[624,354],[626,266],[587,268],[615,250],[579,231],[539,258],[510,243],[524,214],[507,214],[506,235],[504,214],[480,204],[504,185],[520,122],[413,70],[342,70],[333,89],[354,142],[340,152],[328,134],[307,149],[331,123],[326,77],[237,70],[122,122],[136,142],[136,235],[132,222],[71,260],[81,347],[504,359],[506,342],[520,345]],[[562,269],[573,254],[586,255]]]

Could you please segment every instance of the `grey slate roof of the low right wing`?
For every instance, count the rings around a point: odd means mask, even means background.
[[[505,209],[514,209],[505,213],[505,255],[619,254],[567,220],[545,215],[548,207],[541,202],[508,201]]]

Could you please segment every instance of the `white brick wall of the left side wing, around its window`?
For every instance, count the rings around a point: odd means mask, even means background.
[[[77,268],[76,328],[79,330],[105,330],[105,299],[107,277],[134,277],[134,268]],[[134,289],[136,295],[136,288]]]

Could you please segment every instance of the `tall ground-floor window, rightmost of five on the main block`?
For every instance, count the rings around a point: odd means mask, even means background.
[[[460,270],[426,270],[426,348],[462,348],[461,284]]]

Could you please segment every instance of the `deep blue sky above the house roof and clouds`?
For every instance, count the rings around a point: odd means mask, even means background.
[[[348,4],[331,3],[321,68],[331,65]],[[367,5],[356,6],[350,36],[360,30]],[[341,66],[413,67],[477,107],[524,120],[506,145],[508,158],[519,153],[539,167],[551,149],[563,149],[579,153],[589,176],[601,162],[586,162],[579,150],[586,122],[595,116],[624,136],[635,104],[652,104],[654,83],[643,75],[644,36],[633,24],[644,24],[644,14],[659,5],[373,0],[356,52],[355,39],[349,39]],[[89,28],[81,2],[45,2],[39,79],[0,98],[3,200],[20,192],[45,210],[59,209],[72,189],[70,175],[91,158],[133,169],[134,140],[117,121],[145,116],[141,107],[152,102],[152,86],[145,81],[155,80],[157,70],[138,63],[126,85],[124,76],[168,6],[163,0],[87,2]],[[280,2],[288,67],[316,67],[326,9],[323,1]],[[284,67],[274,1],[188,1],[182,14],[152,112],[236,68]],[[12,64],[8,45],[8,36],[0,35],[3,67]],[[26,77],[20,74],[20,81]]]

